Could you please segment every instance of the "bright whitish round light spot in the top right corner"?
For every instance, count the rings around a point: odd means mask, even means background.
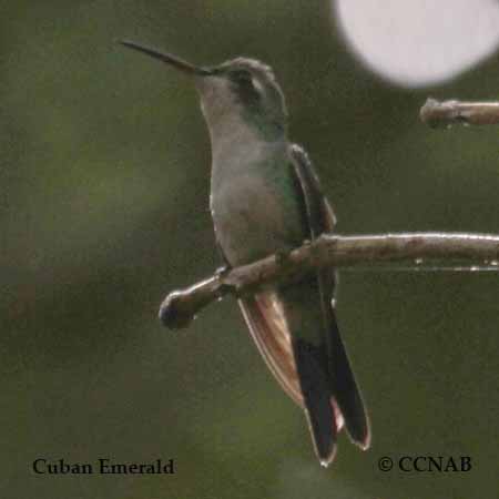
[[[332,0],[348,45],[404,86],[445,82],[499,47],[497,0]]]

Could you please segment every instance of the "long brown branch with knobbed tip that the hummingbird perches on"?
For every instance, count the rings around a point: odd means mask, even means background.
[[[160,319],[171,329],[186,327],[210,303],[227,294],[254,294],[266,286],[292,283],[315,268],[359,264],[459,259],[498,265],[499,235],[410,233],[365,236],[323,234],[289,253],[221,272],[185,289],[171,293],[162,303]]]

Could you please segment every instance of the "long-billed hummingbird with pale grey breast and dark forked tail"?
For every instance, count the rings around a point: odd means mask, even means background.
[[[285,254],[334,231],[336,217],[313,164],[287,136],[283,91],[268,65],[240,57],[201,67],[133,41],[120,43],[184,73],[197,90],[211,139],[210,207],[227,268]],[[238,299],[269,370],[304,409],[325,467],[343,428],[361,449],[370,442],[336,322],[335,285],[333,268],[318,269],[298,283]]]

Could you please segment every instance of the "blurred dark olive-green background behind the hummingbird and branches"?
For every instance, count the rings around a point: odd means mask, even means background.
[[[189,81],[115,38],[197,63],[269,63],[338,232],[498,232],[498,130],[418,120],[428,95],[496,99],[497,57],[397,86],[342,32],[319,0],[1,2],[2,497],[497,497],[497,274],[340,274],[374,437],[368,452],[342,437],[327,470],[233,301],[187,330],[157,322],[169,291],[218,264],[210,144]],[[378,470],[401,455],[468,455],[473,467]],[[176,475],[41,477],[38,457],[173,457]]]

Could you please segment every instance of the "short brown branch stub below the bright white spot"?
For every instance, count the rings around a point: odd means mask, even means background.
[[[421,121],[431,128],[456,123],[499,124],[499,102],[437,101],[427,99],[419,111]]]

